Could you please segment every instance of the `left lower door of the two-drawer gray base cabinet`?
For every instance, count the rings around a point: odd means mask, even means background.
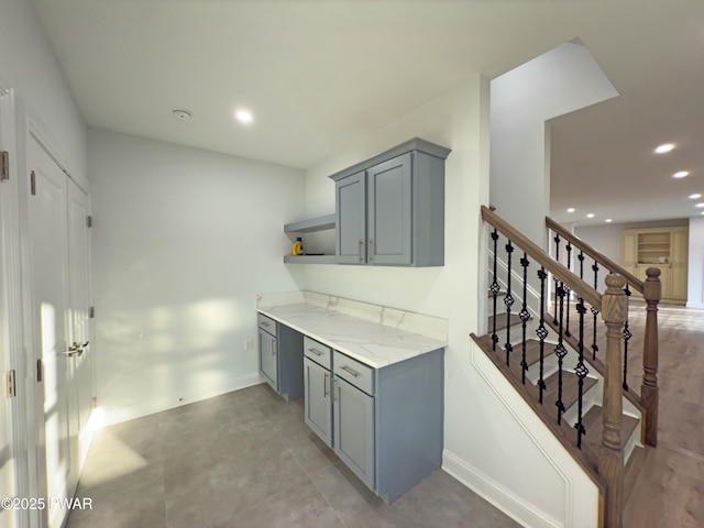
[[[330,371],[304,358],[305,418],[320,440],[332,447],[332,406]]]

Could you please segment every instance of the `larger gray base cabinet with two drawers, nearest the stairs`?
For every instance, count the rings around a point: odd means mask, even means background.
[[[306,424],[370,490],[392,503],[440,469],[443,349],[371,369],[305,343]]]

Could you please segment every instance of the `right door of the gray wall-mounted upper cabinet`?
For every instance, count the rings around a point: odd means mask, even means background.
[[[367,260],[372,264],[410,264],[411,154],[367,170]]]

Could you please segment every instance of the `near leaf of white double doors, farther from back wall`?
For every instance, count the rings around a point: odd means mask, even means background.
[[[34,174],[28,205],[34,340],[43,363],[37,400],[43,403],[44,438],[40,446],[44,446],[45,460],[40,471],[46,471],[44,497],[66,498],[73,496],[77,476],[70,448],[77,427],[69,413],[74,372],[73,356],[68,355],[67,178],[34,138],[28,143],[28,165]],[[46,514],[48,528],[58,528],[66,510],[47,508]]]

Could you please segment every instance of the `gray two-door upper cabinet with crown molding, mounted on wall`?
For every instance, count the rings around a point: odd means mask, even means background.
[[[330,176],[337,263],[444,264],[446,148],[420,139]]]

